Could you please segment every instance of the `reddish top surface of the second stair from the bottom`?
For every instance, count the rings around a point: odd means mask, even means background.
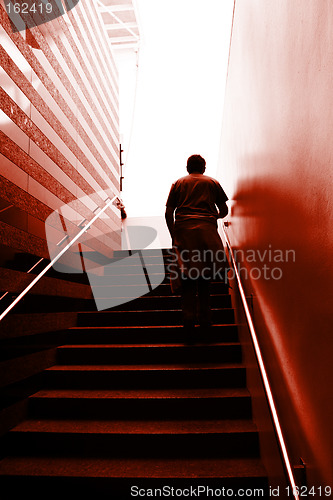
[[[220,434],[256,432],[252,420],[26,420],[11,433]]]

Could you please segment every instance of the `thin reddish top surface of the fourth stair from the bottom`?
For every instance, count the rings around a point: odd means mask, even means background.
[[[47,372],[62,371],[161,371],[161,370],[228,370],[243,368],[242,363],[168,363],[168,364],[142,364],[142,365],[54,365],[46,369]]]

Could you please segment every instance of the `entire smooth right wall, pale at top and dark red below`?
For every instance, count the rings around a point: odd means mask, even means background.
[[[307,463],[310,486],[333,482],[332,18],[330,0],[236,0],[219,170],[292,461]]]

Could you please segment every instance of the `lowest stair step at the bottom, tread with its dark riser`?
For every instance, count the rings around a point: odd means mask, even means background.
[[[43,498],[64,496],[75,491],[76,497],[100,495],[101,498],[131,500],[134,497],[179,496],[208,498],[244,496],[256,492],[270,498],[269,485],[258,459],[109,459],[72,457],[10,457],[0,462],[1,484],[16,496],[38,490]],[[239,492],[239,495],[238,495]],[[65,496],[66,498],[66,496]]]

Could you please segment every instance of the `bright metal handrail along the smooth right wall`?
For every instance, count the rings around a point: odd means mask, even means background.
[[[224,223],[224,224],[225,224],[226,227],[228,227],[228,223]],[[236,265],[234,253],[233,253],[233,250],[232,250],[232,246],[231,246],[231,243],[229,241],[229,237],[228,237],[228,235],[227,235],[227,233],[226,233],[226,231],[224,229],[224,225],[222,225],[222,230],[223,230],[224,238],[225,238],[225,241],[226,241],[226,244],[227,244],[227,247],[228,247],[228,251],[229,251],[230,258],[231,258],[232,266],[233,266],[234,271],[235,271],[235,276],[236,276],[236,279],[237,279],[238,289],[239,289],[239,293],[240,293],[240,296],[241,296],[242,304],[243,304],[243,307],[244,307],[246,321],[248,323],[249,330],[250,330],[250,333],[251,333],[253,346],[254,346],[256,357],[257,357],[257,361],[258,361],[258,364],[259,364],[261,378],[262,378],[262,381],[263,381],[263,384],[264,384],[265,393],[266,393],[266,397],[267,397],[268,404],[269,404],[269,409],[270,409],[270,412],[271,412],[271,415],[272,415],[272,418],[273,418],[273,424],[274,424],[274,427],[275,427],[275,432],[276,432],[276,434],[278,436],[278,442],[279,442],[280,450],[281,450],[281,453],[282,453],[284,466],[285,466],[285,469],[287,471],[288,481],[289,481],[289,484],[291,486],[294,498],[296,500],[299,500],[298,488],[296,486],[296,481],[295,481],[294,474],[293,474],[293,471],[292,471],[292,467],[291,467],[291,463],[290,463],[290,459],[289,459],[287,447],[286,447],[285,440],[284,440],[284,437],[283,437],[283,433],[282,433],[282,429],[281,429],[281,425],[280,425],[280,420],[279,420],[279,417],[278,417],[278,414],[277,414],[277,410],[276,410],[276,406],[275,406],[275,402],[274,402],[274,398],[273,398],[271,386],[270,386],[270,383],[269,383],[269,380],[268,380],[268,376],[267,376],[267,372],[266,372],[264,360],[263,360],[263,357],[262,357],[262,354],[261,354],[261,350],[260,350],[260,346],[259,346],[257,334],[256,334],[256,331],[255,331],[254,323],[253,323],[252,316],[251,316],[251,313],[250,313],[250,310],[249,310],[249,306],[247,304],[247,300],[246,300],[244,288],[243,288],[243,285],[242,285],[242,282],[241,282],[241,279],[240,279],[240,275],[239,275],[239,272],[238,272],[238,269],[237,269],[237,265]]]

